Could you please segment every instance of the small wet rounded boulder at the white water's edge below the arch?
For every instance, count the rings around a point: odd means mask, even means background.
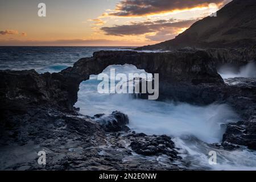
[[[106,132],[129,131],[129,118],[126,114],[114,111],[106,116],[105,114],[94,115],[94,118],[100,123]]]

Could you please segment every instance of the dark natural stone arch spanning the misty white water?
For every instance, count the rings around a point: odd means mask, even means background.
[[[205,51],[139,53],[133,51],[100,51],[93,57],[77,61],[73,67],[60,72],[68,91],[69,109],[77,102],[77,92],[82,81],[98,75],[110,65],[131,64],[147,73],[159,73],[160,98],[209,104],[216,100],[216,85],[224,85],[214,61]],[[200,84],[204,84],[202,88]],[[209,95],[201,98],[201,94]]]

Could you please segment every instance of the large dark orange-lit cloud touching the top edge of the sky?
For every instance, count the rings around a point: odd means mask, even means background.
[[[122,0],[115,10],[104,16],[145,16],[171,13],[176,10],[189,10],[196,7],[208,7],[209,3],[223,5],[227,0]],[[228,0],[229,1],[229,0]]]

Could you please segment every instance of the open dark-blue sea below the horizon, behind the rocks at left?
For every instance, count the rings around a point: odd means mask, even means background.
[[[122,47],[0,47],[0,69],[59,72],[93,52]]]

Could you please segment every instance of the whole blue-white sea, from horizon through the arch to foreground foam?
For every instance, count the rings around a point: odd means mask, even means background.
[[[129,48],[127,48],[129,49]],[[123,47],[0,47],[0,69],[35,69],[38,73],[59,72],[71,67],[82,57],[90,57],[100,50],[123,50]],[[146,73],[134,65],[112,65],[116,73]],[[113,79],[113,78],[112,78]],[[256,152],[240,148],[225,151],[213,147],[220,143],[225,124],[237,122],[238,116],[225,104],[195,106],[172,101],[150,101],[134,99],[130,94],[100,94],[96,75],[80,84],[76,107],[80,113],[110,114],[119,110],[128,115],[129,127],[137,133],[169,135],[180,148],[179,152],[188,169],[208,170],[255,170]],[[208,162],[209,152],[217,152],[217,164]],[[177,163],[177,165],[184,165]]]

